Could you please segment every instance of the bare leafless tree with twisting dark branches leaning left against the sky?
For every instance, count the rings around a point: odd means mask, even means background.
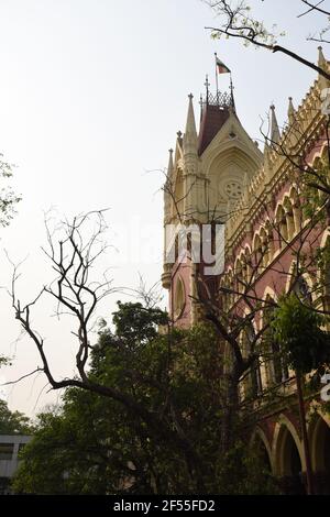
[[[116,386],[99,383],[88,374],[90,352],[94,348],[90,343],[90,331],[99,302],[110,294],[118,292],[107,274],[101,280],[92,277],[97,261],[103,256],[108,246],[102,239],[105,230],[106,222],[101,210],[76,217],[73,221],[62,221],[54,229],[51,229],[51,221],[47,218],[48,246],[44,253],[52,264],[55,277],[28,304],[22,304],[18,296],[16,284],[20,272],[19,266],[13,264],[10,296],[15,318],[35,344],[42,362],[42,365],[33,373],[43,372],[52,389],[77,387],[109,397],[121,404],[131,415],[136,417],[136,421],[146,426],[145,436],[170,444],[177,453],[184,454],[196,490],[204,491],[204,461],[180,422],[182,416],[177,410],[168,383],[164,384],[156,376],[148,376],[143,369],[134,369],[128,364],[125,375],[131,378],[132,384],[138,380],[160,393],[160,407],[150,407],[139,397],[134,397],[132,391],[119,389]],[[148,304],[145,310],[154,310],[154,298],[151,293],[146,292],[143,283],[139,292]],[[77,326],[77,330],[73,332],[77,344],[76,373],[70,377],[56,378],[53,374],[44,338],[32,322],[33,309],[42,302],[45,296],[55,300],[58,317],[70,316]],[[170,354],[170,350],[168,350],[168,354]],[[170,359],[167,364],[170,367]]]

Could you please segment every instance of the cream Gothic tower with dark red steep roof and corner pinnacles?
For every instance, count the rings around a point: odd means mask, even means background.
[[[232,90],[212,95],[207,80],[198,131],[193,95],[188,98],[185,133],[177,133],[175,151],[169,150],[164,185],[162,284],[169,292],[170,316],[182,327],[189,327],[198,318],[194,304],[196,264],[188,251],[185,256],[175,256],[175,262],[168,261],[168,251],[177,242],[176,229],[210,220],[226,222],[244,186],[263,163],[263,154],[238,118]],[[275,133],[276,128],[276,138]]]

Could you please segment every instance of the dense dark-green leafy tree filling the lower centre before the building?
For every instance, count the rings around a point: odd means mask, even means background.
[[[209,327],[156,332],[158,309],[119,304],[116,332],[105,328],[91,352],[88,377],[111,385],[160,415],[163,426],[189,440],[206,493],[272,493],[276,485],[237,427],[235,449],[219,450],[222,356]],[[170,341],[168,339],[170,338]],[[232,432],[235,432],[232,429]],[[252,461],[252,459],[254,461]],[[227,461],[228,460],[228,461]],[[258,466],[257,466],[258,465]],[[122,403],[76,387],[64,405],[40,416],[14,482],[19,493],[196,493],[195,463],[173,440]],[[197,492],[199,493],[199,492]]]

